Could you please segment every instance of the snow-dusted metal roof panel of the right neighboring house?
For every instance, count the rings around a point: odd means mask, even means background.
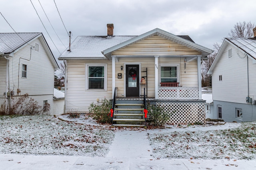
[[[242,49],[245,53],[256,59],[256,39],[255,38],[226,38],[234,45]]]

